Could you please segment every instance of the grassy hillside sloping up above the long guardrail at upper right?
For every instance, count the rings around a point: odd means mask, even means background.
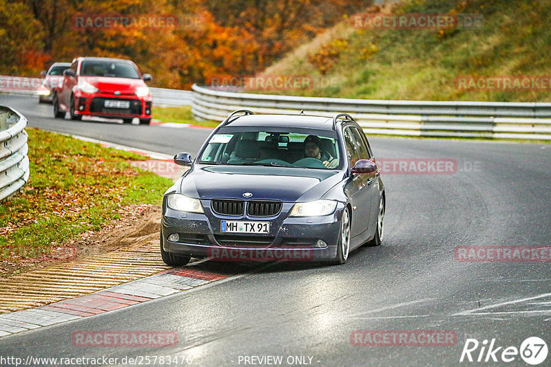
[[[367,12],[481,13],[464,30],[362,30],[351,21],[262,74],[308,75],[313,89],[284,94],[392,100],[551,101],[550,88],[461,90],[457,76],[550,76],[551,1],[406,0]]]

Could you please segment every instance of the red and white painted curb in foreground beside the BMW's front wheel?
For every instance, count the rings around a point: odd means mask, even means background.
[[[5,313],[0,315],[0,337],[122,309],[224,278],[228,276],[187,268],[170,269],[86,296]]]

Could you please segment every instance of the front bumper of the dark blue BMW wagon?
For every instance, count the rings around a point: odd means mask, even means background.
[[[221,261],[320,261],[337,256],[344,203],[338,203],[333,214],[313,217],[289,217],[293,203],[284,203],[278,216],[262,218],[221,216],[210,210],[208,201],[202,203],[205,214],[178,212],[163,203],[161,239],[166,252]],[[269,221],[269,234],[222,233],[223,220]],[[178,241],[169,241],[171,234],[178,234]]]

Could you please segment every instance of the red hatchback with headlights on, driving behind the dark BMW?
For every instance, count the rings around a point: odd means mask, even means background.
[[[79,57],[63,71],[63,82],[54,94],[54,116],[69,112],[72,120],[82,116],[151,122],[152,96],[136,64],[120,58]]]

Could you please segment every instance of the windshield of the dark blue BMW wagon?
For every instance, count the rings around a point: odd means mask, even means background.
[[[295,131],[218,133],[209,140],[199,162],[320,169],[342,166],[336,134],[320,135],[320,131],[312,134]]]

